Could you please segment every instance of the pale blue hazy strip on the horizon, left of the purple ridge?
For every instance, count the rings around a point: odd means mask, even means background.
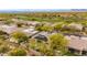
[[[69,11],[65,9],[13,9],[13,10],[0,10],[0,12],[8,12],[8,13],[13,13],[13,12],[64,12],[64,11]]]

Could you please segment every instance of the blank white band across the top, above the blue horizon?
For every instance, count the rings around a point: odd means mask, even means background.
[[[87,9],[86,0],[0,0],[2,9]]]

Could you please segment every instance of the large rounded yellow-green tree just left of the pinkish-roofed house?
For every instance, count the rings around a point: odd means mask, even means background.
[[[53,51],[66,52],[67,40],[59,33],[50,35],[50,45]]]

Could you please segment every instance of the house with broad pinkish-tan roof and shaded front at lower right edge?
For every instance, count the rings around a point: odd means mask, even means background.
[[[68,40],[68,50],[72,53],[79,54],[79,55],[87,55],[87,37],[78,37],[78,36],[65,36]]]

